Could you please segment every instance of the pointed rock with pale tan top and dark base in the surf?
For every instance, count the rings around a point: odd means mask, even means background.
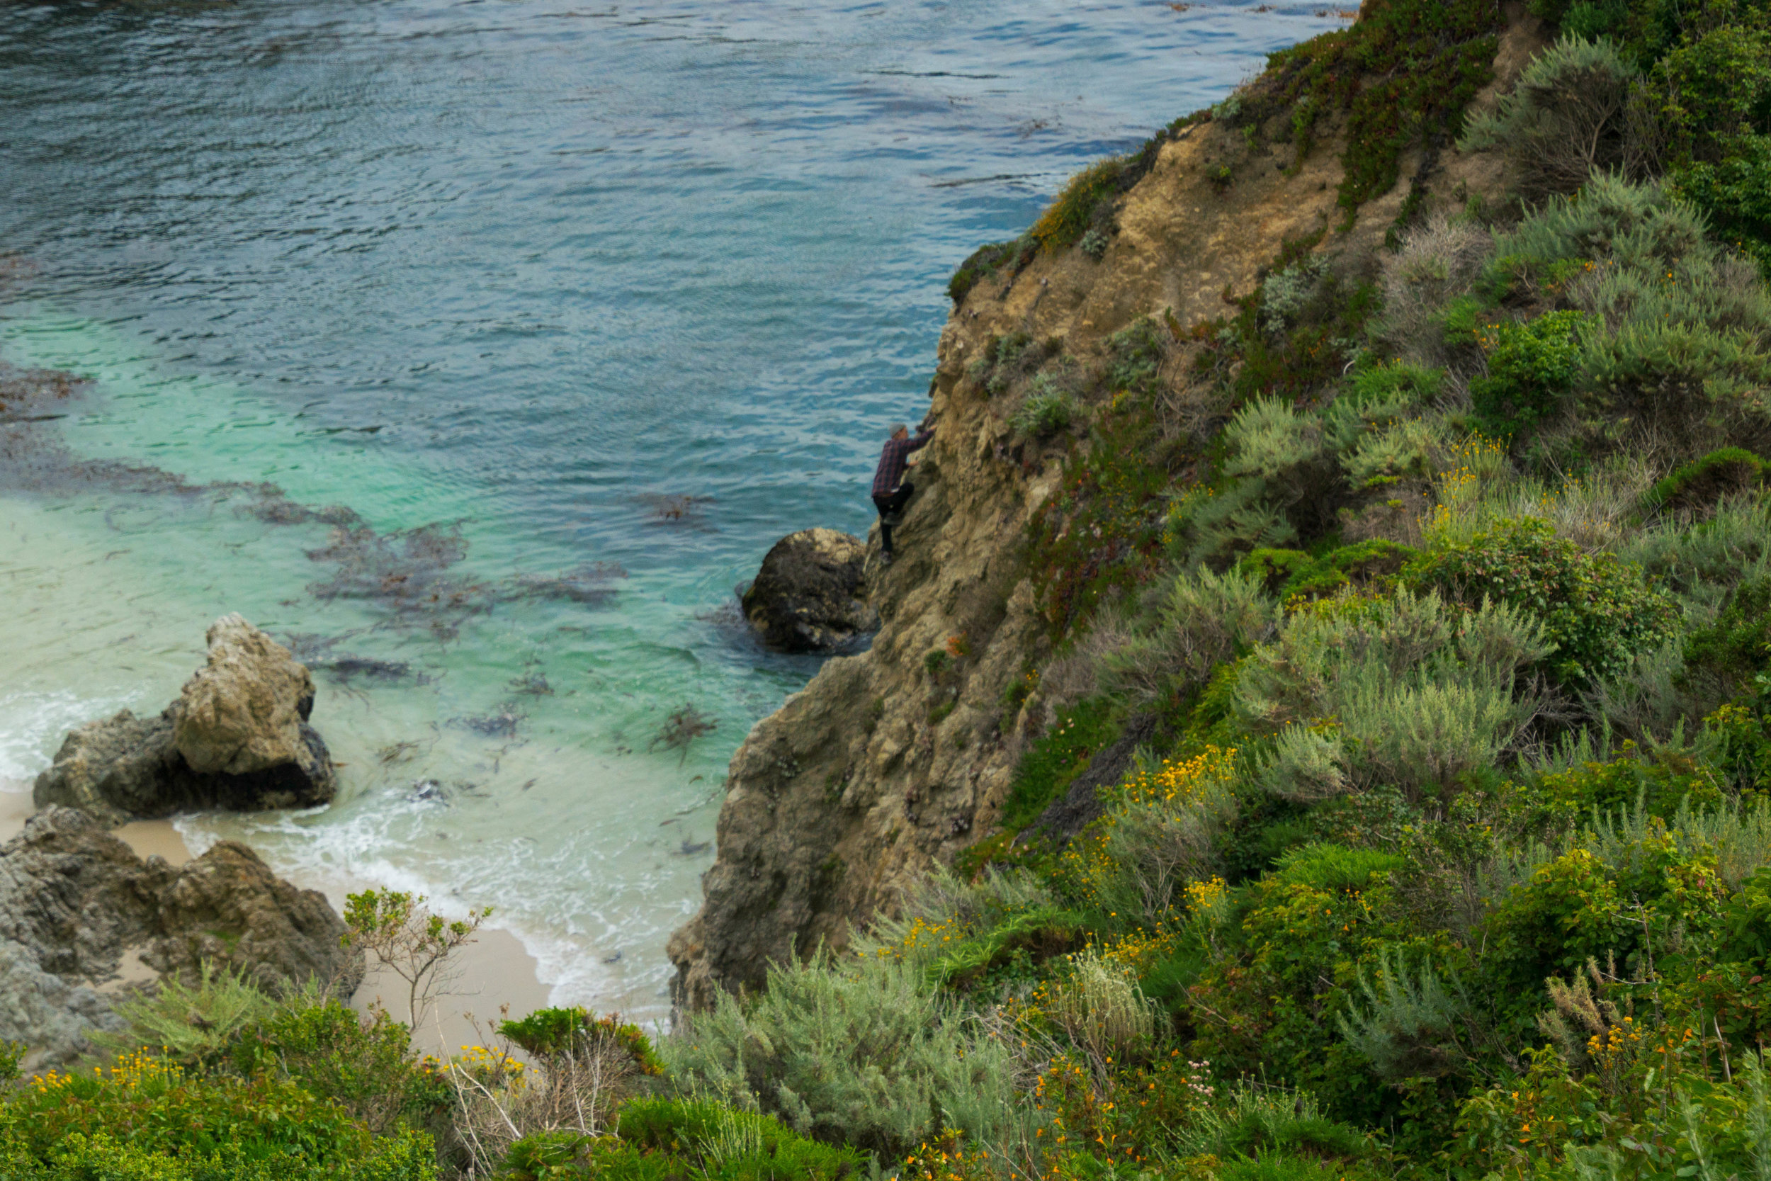
[[[239,614],[207,632],[209,660],[158,717],[119,712],[74,729],[37,776],[37,807],[119,825],[179,811],[312,807],[336,791],[313,678]]]

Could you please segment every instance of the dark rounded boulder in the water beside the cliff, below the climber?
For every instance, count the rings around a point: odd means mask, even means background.
[[[868,547],[836,529],[800,529],[763,558],[744,591],[744,618],[781,652],[834,652],[878,630],[866,602]]]

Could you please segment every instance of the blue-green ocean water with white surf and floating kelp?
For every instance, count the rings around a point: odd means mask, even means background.
[[[193,846],[491,905],[556,1002],[661,1015],[724,763],[816,669],[733,588],[866,529],[947,274],[1344,19],[7,5],[0,402],[83,381],[0,414],[0,781],[161,708],[239,611],[312,664],[342,790]]]

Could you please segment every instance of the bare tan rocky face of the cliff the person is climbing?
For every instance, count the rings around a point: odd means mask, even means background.
[[[1504,39],[1502,78],[1479,101],[1507,83],[1511,58],[1523,60],[1516,41]],[[1119,198],[1100,259],[1041,253],[955,308],[932,391],[939,434],[914,469],[898,561],[878,568],[870,542],[882,630],[870,652],[827,662],[733,756],[705,901],[669,944],[678,1004],[756,984],[792,949],[841,946],[932,862],[997,825],[1024,735],[1043,715],[1034,698],[1004,717],[1004,691],[1050,657],[1024,538],[1061,478],[1064,446],[1018,439],[1013,407],[988,395],[972,361],[994,336],[1027,333],[1098,365],[1107,338],[1142,317],[1192,326],[1231,312],[1226,301],[1252,292],[1300,239],[1323,235],[1318,250],[1369,264],[1408,186],[1367,202],[1341,232],[1339,129],[1321,127],[1303,161],[1288,133],[1266,138],[1279,145],[1250,149],[1215,122],[1176,133]],[[1403,175],[1420,163],[1404,158]],[[1424,179],[1456,200],[1495,182],[1454,154],[1431,172]],[[1185,368],[1185,356],[1171,361]],[[928,657],[953,637],[963,639],[937,676]]]

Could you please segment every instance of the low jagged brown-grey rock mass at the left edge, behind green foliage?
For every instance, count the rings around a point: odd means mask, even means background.
[[[363,969],[342,933],[322,894],[244,845],[143,862],[85,813],[50,807],[0,846],[0,1041],[30,1046],[32,1069],[66,1064],[87,1030],[119,1025],[131,979],[189,977],[204,960],[273,992],[319,977],[349,995]]]

